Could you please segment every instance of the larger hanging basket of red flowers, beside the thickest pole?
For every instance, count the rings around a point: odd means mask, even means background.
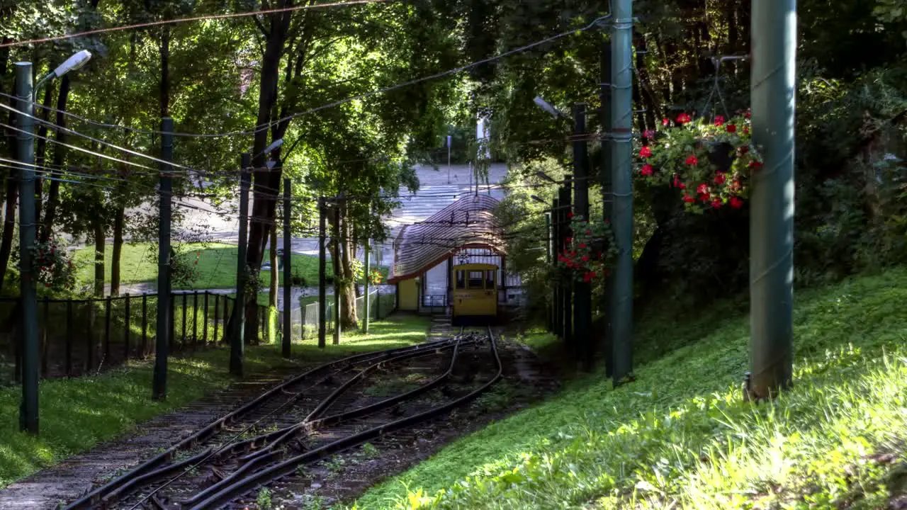
[[[643,132],[636,171],[654,185],[678,191],[688,211],[743,207],[749,179],[762,167],[762,156],[751,140],[751,114],[731,119],[717,115],[711,123],[694,123],[680,113],[673,127]]]

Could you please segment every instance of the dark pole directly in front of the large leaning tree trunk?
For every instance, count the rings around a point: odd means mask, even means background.
[[[249,249],[249,184],[252,154],[244,152],[240,159],[239,171],[239,247],[236,256],[236,306],[237,318],[233,321],[233,335],[229,346],[229,373],[242,377],[243,349],[246,335],[246,287],[249,271],[246,268],[246,252]],[[271,268],[271,270],[277,270]]]

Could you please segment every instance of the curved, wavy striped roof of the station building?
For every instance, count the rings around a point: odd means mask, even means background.
[[[425,221],[407,225],[394,240],[394,266],[387,283],[409,280],[465,248],[504,254],[502,229],[494,217],[498,201],[467,195]]]

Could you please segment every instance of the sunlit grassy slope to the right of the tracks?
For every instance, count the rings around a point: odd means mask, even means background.
[[[907,492],[905,302],[903,269],[798,293],[795,387],[758,407],[741,402],[742,303],[662,309],[638,329],[636,382],[573,381],[358,507],[882,508]]]

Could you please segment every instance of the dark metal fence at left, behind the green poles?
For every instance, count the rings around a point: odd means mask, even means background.
[[[236,299],[211,292],[174,292],[171,352],[223,341]],[[158,295],[38,301],[42,378],[75,377],[144,358],[157,338]],[[0,385],[20,380],[18,299],[0,299]],[[268,308],[258,306],[260,338],[267,338]]]

